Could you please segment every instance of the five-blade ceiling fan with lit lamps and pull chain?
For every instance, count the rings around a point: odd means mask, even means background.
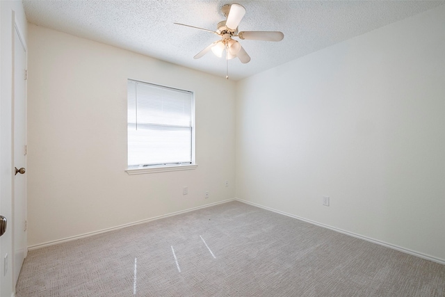
[[[195,29],[200,29],[220,36],[220,40],[212,42],[211,45],[200,51],[193,58],[198,59],[207,54],[210,50],[213,51],[218,57],[223,56],[223,51],[226,51],[225,58],[228,60],[238,57],[241,63],[249,63],[250,56],[243,49],[241,44],[234,40],[234,37],[238,37],[241,40],[266,40],[266,41],[281,41],[284,38],[284,34],[280,31],[241,31],[238,32],[238,24],[241,22],[245,15],[245,8],[238,3],[226,4],[221,8],[221,13],[226,17],[217,25],[216,31],[203,29],[186,24],[179,24],[181,26],[188,26]],[[227,62],[228,72],[228,62]],[[228,74],[226,79],[229,79]]]

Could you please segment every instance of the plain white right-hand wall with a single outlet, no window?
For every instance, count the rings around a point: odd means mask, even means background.
[[[445,6],[237,96],[237,198],[445,261]]]

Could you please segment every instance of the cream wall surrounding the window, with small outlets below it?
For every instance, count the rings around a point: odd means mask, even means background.
[[[129,78],[195,92],[197,169],[124,172]],[[233,81],[30,24],[28,87],[29,246],[234,198]]]

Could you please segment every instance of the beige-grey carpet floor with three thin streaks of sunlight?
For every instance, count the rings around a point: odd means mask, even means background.
[[[445,296],[445,266],[228,202],[32,250],[16,296]]]

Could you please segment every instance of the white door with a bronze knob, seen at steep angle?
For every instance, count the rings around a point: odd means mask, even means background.
[[[26,50],[19,31],[14,35],[14,277],[19,278],[26,257]],[[16,170],[16,171],[17,171]]]

